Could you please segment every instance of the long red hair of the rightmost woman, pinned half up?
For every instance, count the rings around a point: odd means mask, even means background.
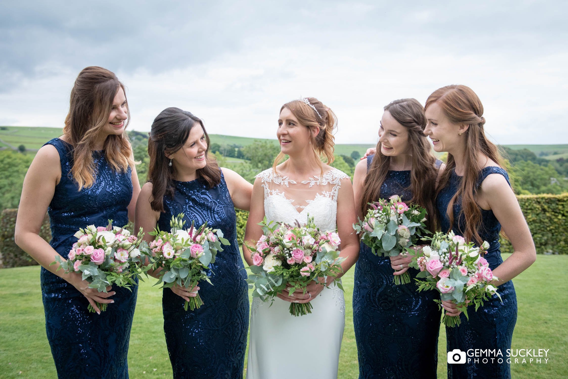
[[[501,167],[503,167],[502,157],[497,146],[485,136],[483,105],[470,87],[451,85],[437,89],[432,95],[428,96],[426,108],[434,103],[442,108],[444,115],[448,117],[451,123],[469,125],[469,128],[465,131],[466,143],[465,151],[463,151],[465,171],[463,172],[461,186],[450,200],[446,213],[450,221],[449,230],[451,230],[455,222],[453,206],[456,201],[461,199],[462,210],[458,215],[458,220],[463,215],[465,220],[465,230],[462,230],[465,234],[463,237],[479,245],[483,242],[479,235],[478,226],[481,225],[481,208],[475,202],[475,195],[478,190],[479,172],[483,167],[478,163],[478,154],[486,155]],[[452,154],[448,153],[448,163],[446,163],[446,169],[440,176],[438,192],[448,186],[454,169],[456,169],[456,160]]]

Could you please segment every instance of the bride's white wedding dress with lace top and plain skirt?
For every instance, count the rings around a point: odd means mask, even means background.
[[[305,224],[307,216],[321,230],[337,228],[337,193],[349,176],[332,169],[301,183],[272,169],[257,175],[264,187],[264,212],[269,221]],[[298,212],[298,208],[301,212]],[[275,298],[253,299],[247,379],[337,378],[345,327],[343,291],[331,284],[311,301],[312,313],[295,317],[290,303]]]

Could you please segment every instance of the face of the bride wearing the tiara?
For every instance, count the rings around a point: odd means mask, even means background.
[[[294,114],[283,108],[278,117],[278,130],[276,132],[280,149],[287,155],[299,154],[310,146],[310,129],[300,124]]]

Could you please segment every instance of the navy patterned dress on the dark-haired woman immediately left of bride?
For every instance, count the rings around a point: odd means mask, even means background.
[[[223,173],[221,183],[209,188],[202,179],[177,182],[173,197],[164,196],[158,220],[160,230],[169,231],[172,216],[184,213],[191,221],[223,231],[231,245],[218,252],[210,264],[211,284],[199,283],[204,304],[184,310],[185,300],[164,288],[162,310],[166,345],[174,378],[242,378],[249,317],[248,285],[237,243],[235,207]]]

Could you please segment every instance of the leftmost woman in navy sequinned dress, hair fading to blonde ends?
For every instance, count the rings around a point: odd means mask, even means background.
[[[73,89],[63,135],[48,141],[24,179],[15,241],[41,266],[45,329],[59,378],[128,378],[128,341],[137,287],[89,288],[79,273],[49,266],[66,258],[79,228],[124,226],[140,184],[125,128],[124,86],[111,71],[87,67]],[[39,235],[45,212],[52,240]],[[96,302],[111,303],[100,313]],[[89,313],[91,304],[98,314]]]

